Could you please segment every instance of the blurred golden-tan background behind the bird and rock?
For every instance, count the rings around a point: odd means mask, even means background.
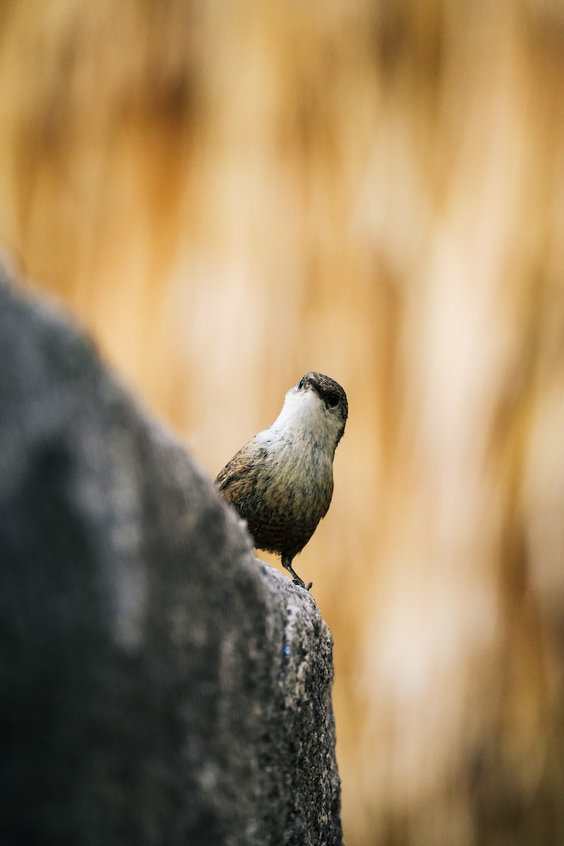
[[[561,3],[3,3],[0,125],[12,261],[211,475],[348,392],[348,846],[564,842]]]

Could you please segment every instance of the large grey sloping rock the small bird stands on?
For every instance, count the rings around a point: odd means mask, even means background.
[[[342,843],[313,597],[4,277],[0,362],[0,843]]]

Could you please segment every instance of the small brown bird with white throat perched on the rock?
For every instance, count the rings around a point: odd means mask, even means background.
[[[347,394],[310,371],[286,394],[282,411],[216,477],[216,489],[246,520],[255,548],[281,556],[293,583],[309,591],[293,558],[325,517],[333,495],[333,458],[348,418]]]

